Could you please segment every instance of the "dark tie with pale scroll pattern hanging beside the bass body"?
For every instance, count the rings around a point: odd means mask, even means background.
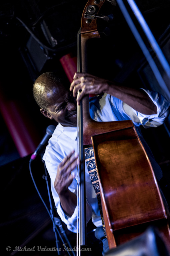
[[[104,229],[104,234],[106,236],[106,229],[105,229],[105,223],[104,223],[103,212],[102,212],[99,178],[98,178],[98,173],[97,173],[97,168],[96,168],[96,162],[95,162],[95,155],[94,155],[93,147],[85,148],[84,153],[85,153],[85,162],[86,162],[86,165],[87,165],[87,168],[88,168],[90,179],[92,181],[93,187],[94,187],[96,195],[97,195],[100,215],[101,215],[101,219],[102,219],[102,225],[103,225],[103,229]]]

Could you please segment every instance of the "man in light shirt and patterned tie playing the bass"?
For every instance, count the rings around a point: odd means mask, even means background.
[[[77,90],[81,90],[76,102]],[[34,82],[33,93],[41,113],[56,120],[58,125],[49,140],[43,159],[51,178],[52,195],[61,220],[70,231],[76,232],[77,218],[77,117],[76,105],[86,94],[96,94],[90,99],[90,114],[96,121],[118,121],[131,119],[139,136],[139,126],[156,127],[169,115],[170,103],[159,93],[144,89],[132,89],[90,74],[76,73],[69,88],[68,83],[53,72],[40,75]],[[145,143],[145,142],[144,142]],[[145,145],[157,179],[162,172],[149,148]],[[87,222],[96,225],[96,234],[102,221],[97,197],[86,167]],[[101,237],[107,247],[104,235]],[[106,243],[106,244],[105,244]],[[108,249],[108,247],[107,247]],[[106,248],[104,251],[107,250]]]

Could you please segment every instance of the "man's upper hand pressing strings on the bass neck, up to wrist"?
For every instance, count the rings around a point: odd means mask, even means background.
[[[105,92],[108,87],[107,80],[87,74],[87,73],[75,73],[73,82],[70,85],[70,91],[73,92],[74,97],[77,95],[77,91],[81,90],[77,97],[77,105],[80,104],[80,100],[87,94],[99,95]]]

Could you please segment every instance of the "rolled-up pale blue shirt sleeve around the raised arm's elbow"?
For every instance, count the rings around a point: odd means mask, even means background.
[[[155,91],[143,89],[151,98],[157,107],[157,114],[146,115],[142,114],[132,107],[123,103],[121,111],[127,115],[136,126],[143,125],[145,128],[158,127],[164,123],[170,113],[170,102],[168,102],[163,95]]]

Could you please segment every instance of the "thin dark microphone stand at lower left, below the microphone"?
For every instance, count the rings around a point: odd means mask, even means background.
[[[75,256],[75,253],[71,247],[71,244],[65,234],[65,230],[62,228],[62,225],[61,225],[61,222],[60,222],[60,219],[59,218],[56,218],[54,217],[54,211],[53,211],[53,206],[52,206],[52,200],[51,200],[51,194],[50,194],[50,189],[49,189],[49,183],[48,183],[48,173],[47,173],[47,169],[46,169],[46,166],[45,166],[45,161],[42,159],[44,155],[44,152],[41,154],[41,160],[44,164],[44,170],[45,170],[45,175],[44,175],[44,178],[46,180],[46,185],[47,185],[47,191],[48,191],[48,197],[49,197],[49,203],[50,203],[50,214],[51,214],[51,220],[52,220],[52,224],[53,224],[53,231],[54,231],[54,234],[55,234],[55,242],[56,242],[56,248],[61,248],[58,246],[58,239],[57,239],[57,233],[59,233],[58,229],[57,229],[57,226],[59,227],[61,233],[63,234],[65,240],[66,240],[66,243],[68,244],[68,246],[70,247],[71,251],[72,251],[72,254],[73,256]],[[56,226],[57,225],[57,226]],[[57,233],[56,233],[57,231]],[[60,236],[61,238],[61,236]],[[62,238],[61,238],[62,239]],[[64,241],[62,240],[63,244],[65,245]],[[58,250],[58,255],[61,255],[61,252]],[[68,251],[68,255],[70,255],[69,251]],[[70,255],[71,256],[71,255]]]

